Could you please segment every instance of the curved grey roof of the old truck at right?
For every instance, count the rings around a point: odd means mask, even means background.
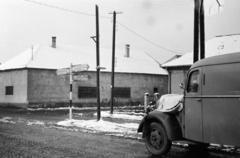
[[[191,68],[229,63],[240,63],[240,52],[209,57],[194,63]]]

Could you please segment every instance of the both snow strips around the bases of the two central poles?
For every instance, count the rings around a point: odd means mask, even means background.
[[[76,113],[77,115],[82,116],[83,113]],[[97,115],[96,113],[94,115]],[[90,133],[98,133],[98,132],[104,132],[107,135],[115,135],[115,136],[124,136],[124,137],[132,137],[132,138],[138,138],[137,134],[137,128],[139,126],[139,123],[129,123],[129,121],[138,121],[142,120],[143,114],[139,113],[126,113],[126,112],[115,112],[114,114],[110,114],[109,111],[102,111],[101,112],[102,118],[114,118],[114,119],[124,119],[128,120],[128,123],[125,123],[126,121],[123,121],[122,123],[112,122],[112,121],[106,121],[106,120],[64,120],[57,122],[58,126],[62,127],[78,127],[81,128],[81,130],[85,132]]]

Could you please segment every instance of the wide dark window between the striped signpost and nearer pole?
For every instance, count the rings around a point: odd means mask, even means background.
[[[78,87],[78,98],[96,98],[96,87]]]

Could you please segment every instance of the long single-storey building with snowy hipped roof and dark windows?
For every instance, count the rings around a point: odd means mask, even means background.
[[[111,92],[112,52],[100,49],[100,98],[108,105]],[[89,69],[76,74],[73,104],[96,104],[96,50],[66,45],[34,46],[0,66],[0,104],[20,106],[66,105],[69,100],[69,75],[56,70],[70,63],[88,64]],[[116,50],[115,98],[117,104],[140,104],[145,92],[167,93],[167,71],[141,51]]]

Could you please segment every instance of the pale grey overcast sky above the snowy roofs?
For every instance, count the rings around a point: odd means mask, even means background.
[[[0,0],[0,62],[32,44],[50,45],[51,36],[57,36],[57,43],[94,47],[95,4],[101,47],[111,49],[109,13],[116,10],[122,12],[117,15],[117,49],[130,44],[131,49],[161,54],[162,61],[192,50],[193,0]],[[206,39],[239,34],[239,16],[240,1],[225,0],[221,13],[206,17]]]

